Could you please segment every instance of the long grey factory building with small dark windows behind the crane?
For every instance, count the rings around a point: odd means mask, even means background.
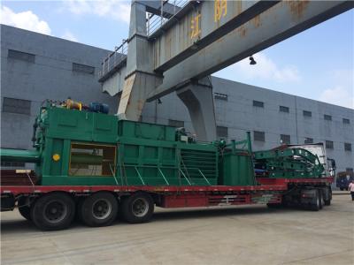
[[[2,25],[1,147],[31,148],[32,125],[45,99],[70,96],[81,102],[105,102],[114,113],[119,95],[102,93],[97,82],[108,53]],[[212,87],[219,138],[242,140],[250,132],[255,150],[323,142],[339,171],[353,170],[354,110],[215,77]],[[175,94],[146,104],[142,121],[184,126],[193,133],[189,112]]]

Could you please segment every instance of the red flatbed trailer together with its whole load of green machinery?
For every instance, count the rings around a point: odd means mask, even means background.
[[[76,108],[79,106],[79,108]],[[150,221],[154,208],[266,204],[319,210],[331,201],[323,146],[319,155],[282,145],[253,152],[245,140],[198,142],[184,128],[133,122],[91,103],[47,101],[35,119],[32,150],[0,148],[1,210],[42,230]],[[101,109],[101,108],[99,108]],[[313,149],[312,148],[312,149]]]

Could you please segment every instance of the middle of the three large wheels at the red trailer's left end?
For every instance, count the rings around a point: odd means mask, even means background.
[[[81,221],[89,226],[110,225],[118,214],[118,201],[112,193],[94,193],[82,201]]]

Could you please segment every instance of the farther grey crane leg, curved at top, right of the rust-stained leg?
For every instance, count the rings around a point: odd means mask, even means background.
[[[200,79],[176,92],[189,110],[196,138],[202,141],[215,140],[215,110],[210,80],[208,78]]]

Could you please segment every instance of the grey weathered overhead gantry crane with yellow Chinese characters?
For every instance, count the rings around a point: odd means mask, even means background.
[[[100,81],[111,95],[121,91],[119,117],[135,121],[146,101],[176,91],[189,110],[198,140],[214,140],[210,74],[353,5],[352,1],[135,0],[129,36],[104,59]]]

